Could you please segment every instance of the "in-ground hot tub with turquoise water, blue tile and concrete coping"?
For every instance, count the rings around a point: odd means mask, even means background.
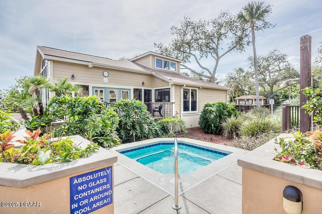
[[[236,164],[248,152],[189,138],[177,140],[179,194]],[[174,138],[125,143],[108,150],[118,156],[116,169],[125,167],[167,193],[174,193]]]

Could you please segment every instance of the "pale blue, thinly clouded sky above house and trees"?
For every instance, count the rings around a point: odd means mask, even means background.
[[[236,14],[249,1],[242,0],[104,0],[104,1],[0,1],[0,89],[15,78],[32,75],[36,47],[47,46],[112,59],[132,58],[155,51],[154,42],[169,43],[170,28],[184,16],[212,19],[221,10]],[[258,55],[278,48],[299,67],[299,38],[312,36],[312,61],[322,42],[322,3],[319,0],[271,0],[269,21],[276,26],[256,32]],[[224,56],[216,76],[224,78],[234,68],[248,69],[245,52]],[[209,58],[201,63],[213,69]],[[190,67],[200,70],[192,62]]]

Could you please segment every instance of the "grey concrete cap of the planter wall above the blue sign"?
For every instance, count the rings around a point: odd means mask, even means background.
[[[85,148],[90,141],[74,135],[73,141]],[[112,165],[117,162],[117,156],[99,148],[87,158],[80,158],[72,162],[56,162],[44,166],[33,166],[14,163],[0,163],[0,185],[25,188],[36,184],[56,180],[58,178],[82,173],[98,167]]]

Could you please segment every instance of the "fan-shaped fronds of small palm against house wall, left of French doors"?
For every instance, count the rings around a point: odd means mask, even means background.
[[[50,91],[55,92],[57,97],[70,95],[72,92],[77,93],[82,90],[80,85],[69,82],[68,78],[56,79],[54,83],[48,83],[45,87]]]

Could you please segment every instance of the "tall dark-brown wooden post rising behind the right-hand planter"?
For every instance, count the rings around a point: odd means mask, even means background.
[[[311,36],[304,35],[300,38],[300,107],[308,100],[302,89],[311,86]],[[300,108],[300,132],[311,129],[311,117]]]

